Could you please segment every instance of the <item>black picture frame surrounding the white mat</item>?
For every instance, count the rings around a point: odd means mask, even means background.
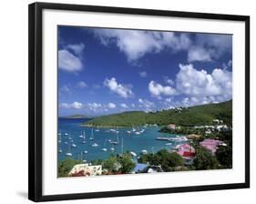
[[[42,194],[42,12],[44,9],[68,11],[91,11],[128,15],[174,16],[197,19],[230,20],[245,23],[245,182],[221,185],[192,186],[161,189],[136,189],[90,192],[77,194],[49,195]],[[64,199],[92,199],[105,197],[135,196],[147,194],[176,193],[188,191],[243,189],[250,188],[250,16],[219,15],[167,10],[149,10],[138,8],[108,7],[94,5],[67,5],[34,3],[29,5],[29,141],[28,141],[28,199],[33,201],[49,201]]]

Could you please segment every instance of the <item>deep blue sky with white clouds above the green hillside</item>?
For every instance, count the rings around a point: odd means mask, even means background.
[[[232,36],[58,26],[59,116],[220,103]]]

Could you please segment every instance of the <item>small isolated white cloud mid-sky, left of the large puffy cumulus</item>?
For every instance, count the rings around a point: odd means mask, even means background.
[[[118,84],[115,77],[110,79],[106,78],[104,81],[104,85],[110,89],[110,91],[118,94],[119,97],[131,97],[133,93],[131,88],[122,84]]]

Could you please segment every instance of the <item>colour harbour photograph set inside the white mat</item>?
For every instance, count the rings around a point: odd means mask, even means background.
[[[232,168],[231,34],[57,26],[57,44],[58,178]]]

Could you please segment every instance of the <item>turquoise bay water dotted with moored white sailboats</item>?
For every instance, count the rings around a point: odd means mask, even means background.
[[[109,131],[110,128],[93,128],[94,140],[90,140],[92,128],[81,127],[81,123],[88,119],[69,119],[58,118],[58,160],[63,160],[67,157],[74,159],[81,159],[81,153],[85,150],[87,154],[82,153],[82,159],[86,159],[87,162],[94,159],[106,159],[111,154],[120,154],[123,152],[132,151],[140,155],[141,150],[147,150],[148,152],[157,152],[159,149],[175,148],[180,142],[174,141],[161,141],[156,140],[158,137],[175,137],[175,135],[160,133],[159,127],[148,126],[144,128],[145,131],[140,135],[136,135],[134,132],[128,134],[131,128],[118,128],[118,145],[113,145],[108,140],[117,141],[117,133]],[[140,127],[141,130],[143,127]],[[96,131],[98,129],[98,131]],[[85,131],[86,143],[82,141],[85,139],[79,136]],[[67,133],[68,135],[66,135]],[[73,140],[73,141],[72,141]],[[123,141],[123,142],[122,142]],[[97,143],[97,147],[92,147],[93,143]],[[166,145],[167,143],[171,143]],[[72,147],[75,144],[77,147]],[[122,148],[123,144],[123,148]],[[107,148],[107,151],[103,151],[102,148]],[[115,148],[111,150],[110,148]],[[59,152],[61,149],[62,152]],[[71,152],[72,156],[66,156],[67,152]]]

